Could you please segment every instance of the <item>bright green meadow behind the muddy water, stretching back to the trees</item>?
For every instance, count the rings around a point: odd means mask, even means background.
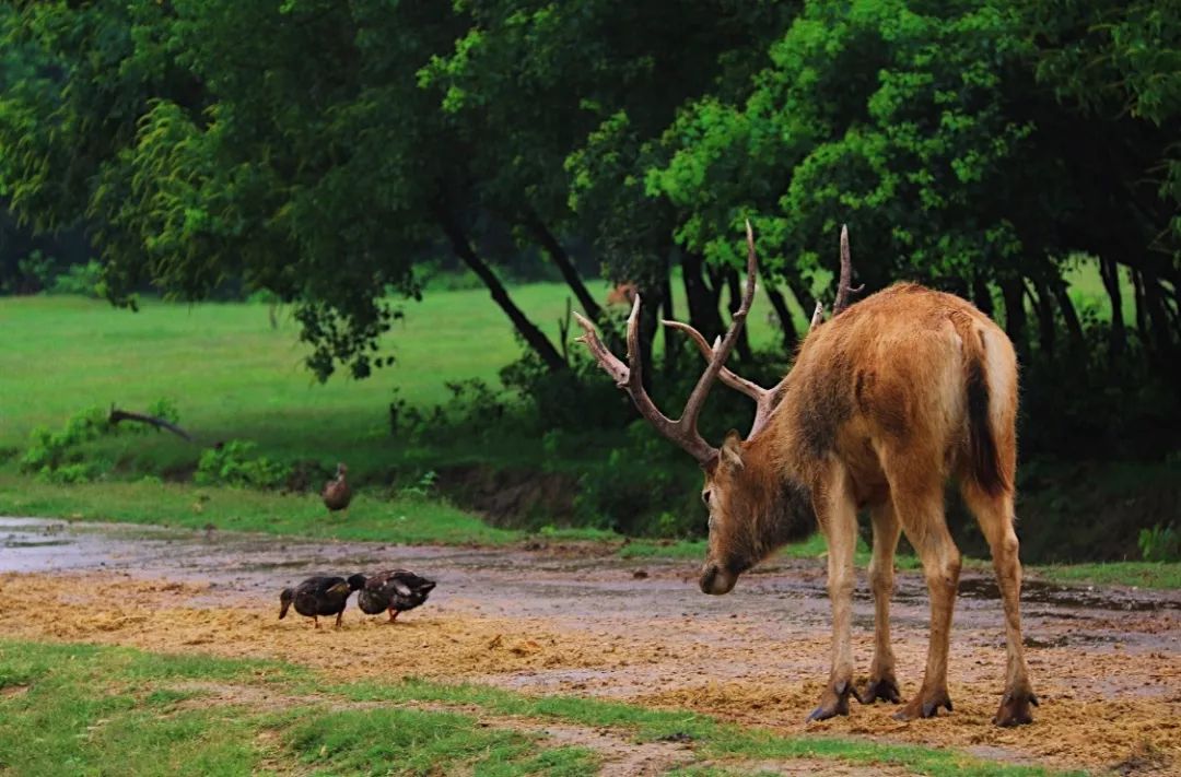
[[[1079,268],[1077,274],[1072,293],[1103,303],[1094,270]],[[606,290],[603,283],[593,287],[599,299]],[[513,294],[556,337],[563,286],[524,285]],[[770,306],[764,301],[756,309]],[[272,328],[266,303],[145,300],[141,312],[130,313],[79,298],[0,298],[0,512],[387,542],[518,541],[520,531],[491,528],[438,498],[406,495],[398,483],[468,463],[537,468],[544,461],[547,468],[578,472],[589,462],[601,464],[620,440],[588,435],[567,440],[555,457],[536,433],[511,426],[479,436],[391,435],[387,406],[394,387],[411,405],[430,407],[448,399],[448,381],[479,378],[498,385],[500,368],[521,353],[483,289],[431,290],[406,311],[405,321],[384,340],[398,358],[393,367],[368,380],[337,376],[321,385],[302,366],[296,325],[285,314]],[[796,315],[802,326],[803,311]],[[765,315],[751,316],[750,327],[756,346],[772,346],[777,335]],[[196,443],[163,433],[104,438],[87,448],[86,455],[106,470],[100,482],[89,484],[53,484],[18,472],[19,453],[35,426],[58,427],[89,406],[143,410],[159,398],[175,401]],[[159,482],[157,476],[170,470],[191,471],[203,449],[229,439],[253,440],[259,453],[281,461],[312,459],[324,466],[347,461],[354,479],[371,485],[347,522],[333,522],[314,495]],[[587,529],[554,536],[621,542]],[[703,547],[634,542],[621,553],[700,557]],[[811,544],[789,550],[820,553],[822,547]],[[1129,562],[1048,574],[1173,587],[1179,585],[1176,568]]]

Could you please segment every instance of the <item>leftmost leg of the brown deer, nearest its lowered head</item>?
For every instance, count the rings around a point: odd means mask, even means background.
[[[815,492],[815,491],[814,491]],[[828,542],[828,598],[833,606],[833,668],[828,687],[809,720],[826,720],[849,714],[853,693],[853,554],[857,546],[857,509],[853,498],[839,489],[821,489],[815,500],[816,517]]]

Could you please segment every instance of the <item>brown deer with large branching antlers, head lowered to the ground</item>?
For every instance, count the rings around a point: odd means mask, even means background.
[[[905,531],[922,561],[931,594],[927,666],[918,694],[895,717],[908,720],[952,710],[947,649],[960,554],[944,517],[944,484],[959,482],[992,550],[1004,601],[1009,668],[997,725],[1032,720],[1037,705],[1025,667],[1019,614],[1022,567],[1013,531],[1017,359],[1005,333],[968,302],[900,283],[846,308],[847,236],[834,316],[821,311],[772,389],[724,365],[753,300],[755,237],[746,224],[748,276],[742,305],[724,337],[711,346],[692,327],[665,321],[693,339],[707,366],[677,420],[661,413],[640,376],[640,299],[627,326],[628,364],[612,354],[585,318],[580,338],[665,437],[705,471],[702,498],[710,538],[700,587],[729,593],[738,576],[776,548],[820,525],[828,543],[833,658],[828,686],[809,717],[848,714],[849,696],[862,704],[900,701],[889,639],[894,550]],[[755,400],[750,435],[731,431],[722,448],[706,443],[697,419],[716,379]],[[873,523],[869,581],[874,594],[874,655],[867,684],[853,684],[850,619],[857,510]]]

